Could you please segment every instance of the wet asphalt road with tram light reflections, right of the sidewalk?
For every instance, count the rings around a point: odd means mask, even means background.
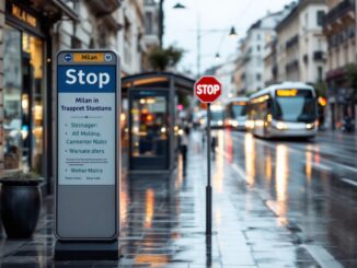
[[[228,161],[315,259],[357,266],[357,136],[319,132],[302,141],[216,135],[216,161]]]

